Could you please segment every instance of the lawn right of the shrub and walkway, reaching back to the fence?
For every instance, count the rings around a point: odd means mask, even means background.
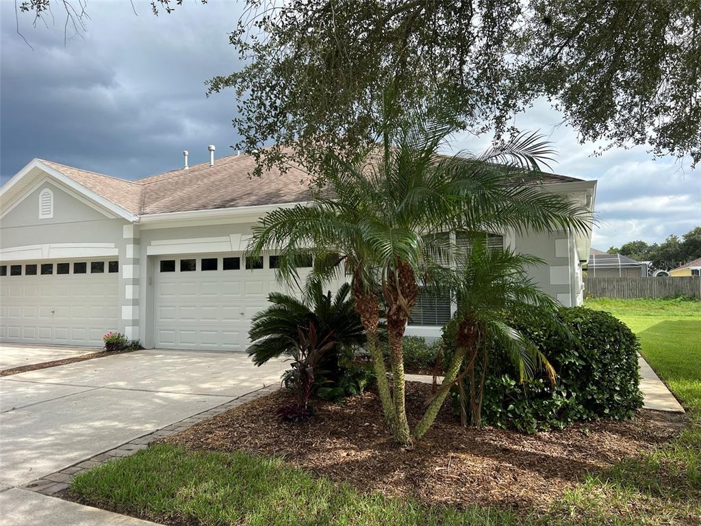
[[[621,515],[639,524],[701,523],[701,302],[601,298],[585,306],[611,312],[637,334],[641,354],[691,424],[672,444],[587,476],[565,495],[560,511],[591,524],[618,524]]]

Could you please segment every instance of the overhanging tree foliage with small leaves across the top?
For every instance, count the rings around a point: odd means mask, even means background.
[[[86,29],[83,0],[19,8],[43,18],[56,4]],[[285,168],[285,146],[308,165],[319,144],[374,142],[390,85],[400,108],[451,93],[472,133],[508,133],[545,96],[582,141],[701,159],[698,0],[246,0],[230,41],[243,67],[208,90],[235,90],[236,148],[259,170]]]

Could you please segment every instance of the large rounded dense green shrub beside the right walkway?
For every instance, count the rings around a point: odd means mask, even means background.
[[[520,384],[505,365],[508,361],[499,357],[503,350],[496,345],[490,350],[496,359],[491,360],[484,386],[485,424],[534,433],[579,420],[625,419],[642,406],[639,343],[633,332],[610,314],[584,307],[563,308],[559,317],[571,335],[534,318],[512,323],[550,360],[558,375],[555,386],[544,376]],[[443,330],[448,356],[454,349],[455,325],[451,322]],[[459,407],[458,390],[453,391]]]

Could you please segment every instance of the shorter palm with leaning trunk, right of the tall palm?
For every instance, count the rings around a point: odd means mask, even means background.
[[[543,263],[531,255],[489,248],[486,235],[482,234],[473,236],[465,252],[458,255],[455,269],[438,267],[433,270],[434,282],[440,283],[439,289],[456,299],[456,351],[441,388],[414,428],[415,440],[433,424],[450,387],[463,381],[458,378],[463,363],[467,366],[461,376],[467,377],[470,384],[471,424],[482,425],[482,394],[492,342],[505,351],[521,382],[532,378],[536,369],[543,369],[554,383],[555,372],[547,358],[522,332],[509,325],[510,320],[523,314],[547,317],[553,324],[562,325],[557,317],[557,302],[538,290],[526,274],[526,267]],[[480,374],[476,378],[478,364]],[[462,397],[461,403],[465,403]]]

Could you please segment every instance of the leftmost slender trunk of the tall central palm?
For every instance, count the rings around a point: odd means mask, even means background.
[[[380,395],[385,423],[390,429],[390,432],[394,433],[396,419],[392,395],[390,393],[389,383],[387,382],[387,368],[385,367],[385,360],[382,356],[382,349],[380,349],[379,337],[377,335],[377,328],[380,323],[379,298],[372,293],[368,294],[365,292],[362,288],[362,284],[354,280],[353,299],[355,299],[355,311],[360,315],[360,321],[363,328],[365,328],[367,348],[372,357],[372,366],[377,377],[377,391]]]

